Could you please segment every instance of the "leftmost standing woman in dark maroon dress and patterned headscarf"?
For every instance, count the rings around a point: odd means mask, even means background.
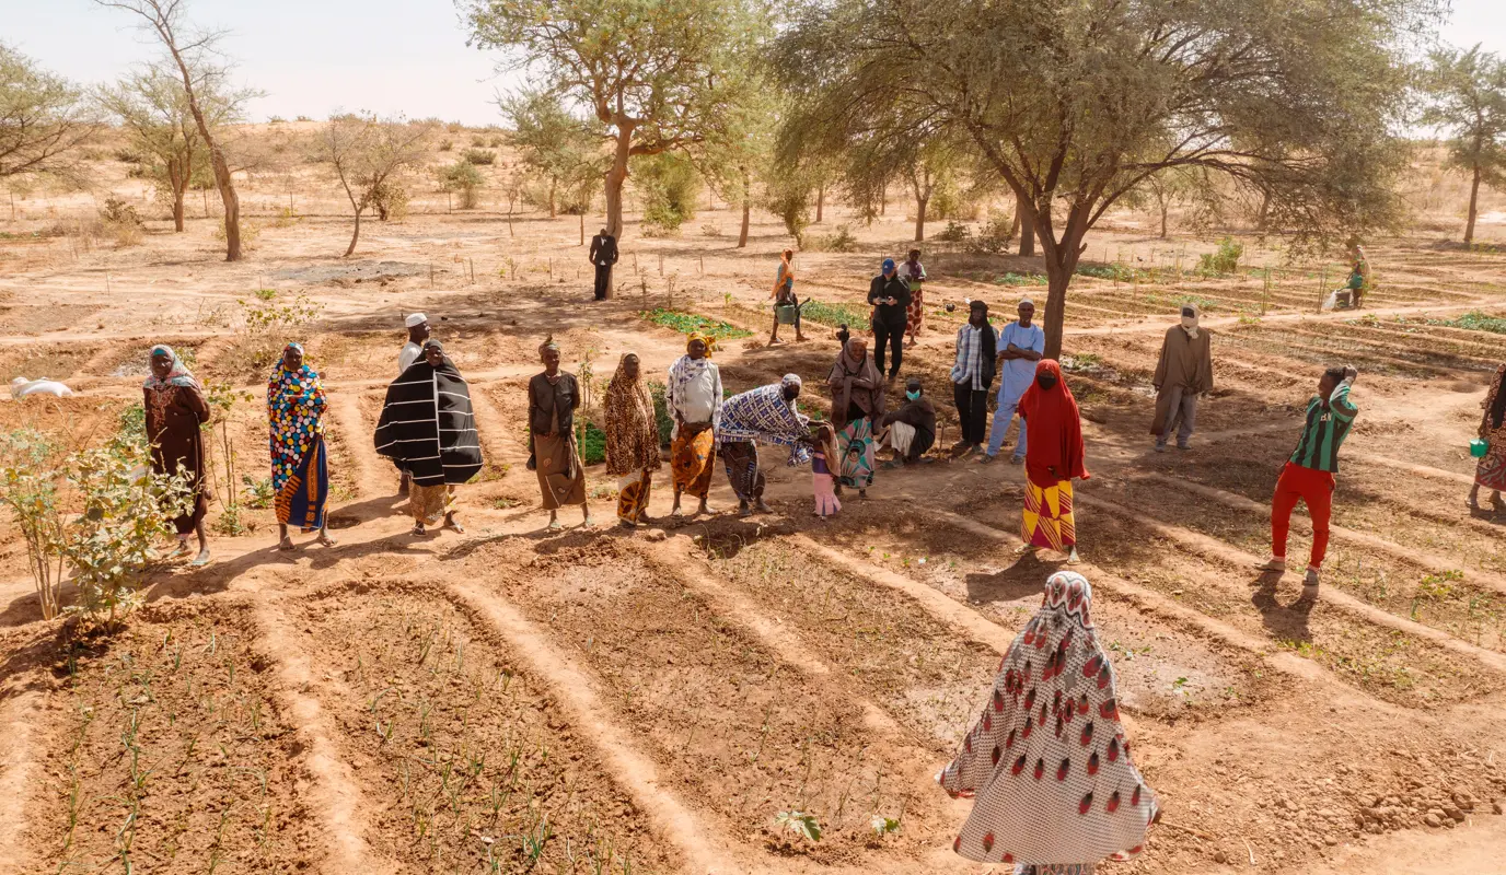
[[[214,492],[205,477],[209,462],[200,426],[209,422],[209,402],[203,396],[203,386],[172,346],[152,346],[151,367],[152,375],[142,384],[142,392],[146,440],[152,444],[152,471],[182,471],[193,494],[191,509],[173,518],[173,529],[178,532],[178,550],[173,556],[188,553],[188,535],[193,533],[199,538],[199,556],[190,565],[208,565],[209,538],[203,532],[203,515],[209,512]]]

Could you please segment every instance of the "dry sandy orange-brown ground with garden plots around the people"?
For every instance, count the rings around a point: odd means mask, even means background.
[[[861,315],[873,267],[907,247],[908,220],[890,212],[860,229],[857,253],[803,255],[800,292]],[[331,392],[340,541],[282,554],[271,512],[250,512],[252,532],[215,538],[208,568],[152,574],[127,631],[80,636],[41,622],[5,523],[0,869],[983,869],[950,854],[967,809],[929,776],[1062,559],[1014,556],[1018,468],[880,471],[827,524],[804,477],[779,467],[776,514],[751,520],[670,520],[661,485],[663,536],[545,533],[535,509],[523,387],[547,334],[604,387],[622,352],[651,373],[679,355],[682,336],[640,316],[673,306],[753,331],[717,354],[730,390],[788,370],[812,392],[824,383],[831,325],[764,345],[788,239],[776,224],[761,217],[745,250],[721,209],[679,238],[633,227],[619,295],[596,304],[572,217],[526,214],[511,232],[495,214],[370,223],[351,261],[334,258],[348,227],[333,206],[258,221],[235,265],[208,220],[184,235],[154,226],[127,250],[0,245],[0,377],[81,392],[0,402],[0,422],[75,446],[116,428],[148,346],[169,342],[248,393],[226,434],[238,468],[264,476],[256,355],[271,340],[247,331],[238,301],[271,288],[277,303],[318,304],[286,339],[307,343]],[[1506,309],[1506,262],[1378,244],[1381,286],[1355,319],[1315,313],[1339,268],[1277,270],[1270,285],[1187,274],[1211,245],[1098,235],[1090,256],[1154,273],[1080,279],[1069,306],[1093,471],[1078,492],[1083,571],[1166,807],[1148,852],[1108,870],[1506,872],[1506,818],[1492,813],[1506,798],[1506,515],[1464,508],[1465,443],[1501,337],[1426,322]],[[1008,313],[1021,289],[997,277],[1030,264],[941,253],[928,267],[928,328],[905,370],[950,416],[959,316],[944,303]],[[1184,297],[1208,310],[1220,384],[1196,449],[1155,455],[1149,373]],[[413,310],[473,384],[488,468],[461,492],[465,536],[408,535],[370,449]],[[1247,566],[1267,547],[1298,411],[1343,360],[1363,370],[1361,419],[1312,602],[1295,577]],[[943,443],[955,434],[952,419]],[[593,468],[589,482],[610,521],[611,477]],[[712,503],[732,503],[720,476]],[[1300,556],[1306,523],[1295,529]],[[816,815],[822,840],[782,834],[786,810]],[[875,815],[901,830],[875,836]]]

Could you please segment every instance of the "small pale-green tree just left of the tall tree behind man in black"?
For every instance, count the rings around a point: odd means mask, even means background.
[[[575,191],[583,176],[599,178],[601,136],[547,92],[524,90],[497,102],[512,122],[512,145],[523,163],[550,184],[550,218],[554,218],[560,188]]]

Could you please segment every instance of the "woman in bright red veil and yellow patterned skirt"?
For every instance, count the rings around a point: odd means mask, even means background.
[[[1072,517],[1072,480],[1086,480],[1083,420],[1077,399],[1054,358],[1036,363],[1036,381],[1020,399],[1026,420],[1026,511],[1023,550],[1045,547],[1077,562],[1077,523]]]

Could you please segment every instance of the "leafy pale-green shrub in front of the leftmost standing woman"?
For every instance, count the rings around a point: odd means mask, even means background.
[[[152,471],[146,444],[119,435],[104,447],[75,453],[68,483],[84,508],[69,523],[63,544],[75,571],[78,607],[114,623],[140,604],[140,574],[172,535],[169,521],[193,506],[193,491],[184,471]]]

